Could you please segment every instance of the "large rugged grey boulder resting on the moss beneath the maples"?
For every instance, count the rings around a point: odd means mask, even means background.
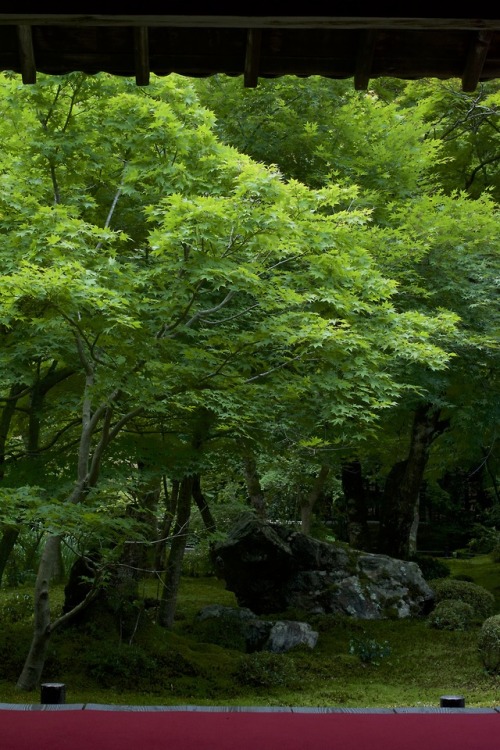
[[[211,554],[240,607],[257,614],[296,609],[374,620],[432,607],[433,592],[415,562],[322,542],[252,513]]]

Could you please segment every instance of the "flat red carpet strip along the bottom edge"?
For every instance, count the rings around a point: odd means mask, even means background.
[[[1,750],[500,750],[500,713],[0,711]]]

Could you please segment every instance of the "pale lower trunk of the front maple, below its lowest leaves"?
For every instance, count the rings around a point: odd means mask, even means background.
[[[35,624],[31,647],[17,681],[19,690],[35,690],[42,676],[50,642],[49,582],[60,551],[59,536],[49,536],[45,542],[34,591]]]

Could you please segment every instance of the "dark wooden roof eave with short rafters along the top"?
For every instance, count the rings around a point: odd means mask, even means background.
[[[239,15],[189,0],[172,0],[168,14],[148,13],[148,4],[128,14],[105,7],[100,14],[0,13],[0,71],[20,73],[24,83],[37,73],[106,72],[135,76],[140,86],[151,75],[221,73],[241,75],[248,88],[266,78],[321,75],[353,78],[358,90],[384,76],[435,77],[461,80],[466,92],[500,79],[500,13],[481,0],[472,18],[444,17],[449,6],[440,11],[439,0],[430,18],[412,3],[379,16],[374,3],[358,4],[359,15],[328,16],[329,7],[314,0],[303,15],[284,15],[269,0]]]

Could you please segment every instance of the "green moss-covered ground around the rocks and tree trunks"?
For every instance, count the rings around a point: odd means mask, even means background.
[[[446,564],[492,591],[500,612],[500,564],[487,555]],[[141,593],[155,597],[155,584]],[[40,700],[15,688],[31,637],[30,597],[30,589],[0,592],[0,702]],[[61,590],[53,601],[60,606]],[[103,621],[68,627],[53,636],[43,680],[63,682],[67,703],[425,708],[460,694],[468,707],[500,706],[500,677],[485,672],[477,651],[479,624],[450,632],[425,620],[314,616],[314,649],[244,654],[236,643],[200,639],[196,614],[214,603],[236,606],[216,578],[184,577],[170,632],[148,612],[127,638]]]

